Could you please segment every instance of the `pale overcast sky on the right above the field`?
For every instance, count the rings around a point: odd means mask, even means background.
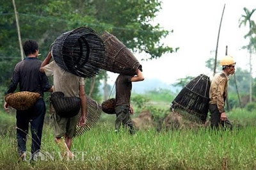
[[[244,14],[243,8],[249,10],[256,8],[255,0],[163,0],[162,10],[154,22],[159,23],[164,29],[172,30],[163,41],[170,47],[180,49],[172,54],[164,54],[159,59],[140,61],[143,65],[145,79],[160,79],[172,84],[179,78],[187,75],[197,76],[200,73],[212,76],[212,72],[205,68],[205,61],[215,56],[218,29],[220,26],[223,6],[221,33],[218,47],[218,59],[225,55],[225,46],[228,45],[228,54],[234,56],[237,66],[248,67],[249,54],[241,49],[248,44],[243,36],[248,32],[247,27],[239,28],[239,19]],[[256,13],[253,14],[256,22]],[[143,54],[136,54],[140,60]],[[256,66],[255,55],[253,66]],[[256,75],[253,68],[253,76]],[[113,84],[118,74],[109,72],[109,84]]]

